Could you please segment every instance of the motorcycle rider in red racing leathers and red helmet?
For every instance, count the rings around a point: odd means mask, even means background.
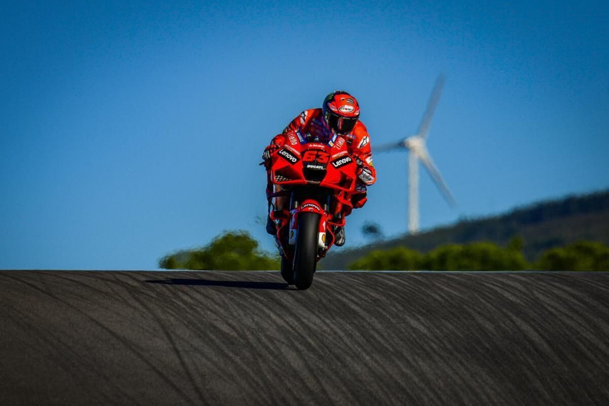
[[[264,159],[267,172],[270,165],[270,156],[280,149],[286,141],[289,133],[297,135],[301,143],[304,142],[336,142],[337,137],[342,137],[347,150],[355,159],[357,169],[356,192],[351,196],[353,208],[361,208],[367,199],[367,186],[375,183],[376,170],[372,164],[372,152],[370,149],[370,135],[361,121],[359,121],[359,103],[357,99],[346,91],[336,90],[323,99],[322,108],[305,110],[296,117],[283,133],[275,136],[270,145],[264,149]],[[267,177],[267,198],[273,192],[281,191],[278,185],[273,185],[270,177]],[[273,186],[275,190],[273,191]],[[269,210],[271,201],[269,198]],[[286,197],[275,197],[275,210],[283,210],[287,206]],[[276,225],[270,217],[267,219],[267,233],[275,235]],[[339,247],[345,243],[345,230],[343,227],[334,229],[334,242]]]

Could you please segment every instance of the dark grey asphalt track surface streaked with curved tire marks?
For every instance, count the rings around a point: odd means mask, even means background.
[[[0,271],[0,405],[609,404],[609,273]]]

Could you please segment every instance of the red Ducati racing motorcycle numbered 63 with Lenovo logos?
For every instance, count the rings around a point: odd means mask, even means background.
[[[327,144],[289,134],[270,159],[268,175],[279,186],[270,197],[289,197],[289,209],[272,210],[281,253],[281,276],[298,289],[313,282],[317,261],[334,244],[334,227],[353,210],[357,164],[342,137]]]

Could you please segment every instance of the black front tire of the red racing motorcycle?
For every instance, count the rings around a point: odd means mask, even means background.
[[[298,289],[309,289],[317,268],[317,239],[319,236],[317,213],[298,214],[298,234],[294,252],[294,284]]]

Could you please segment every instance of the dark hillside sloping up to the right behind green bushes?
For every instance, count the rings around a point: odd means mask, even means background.
[[[609,190],[541,201],[502,215],[465,219],[414,236],[404,235],[363,247],[335,251],[320,265],[324,269],[345,269],[370,251],[393,247],[407,247],[426,253],[448,243],[489,241],[504,246],[517,235],[524,239],[523,252],[529,261],[534,261],[549,248],[579,240],[609,244]]]

